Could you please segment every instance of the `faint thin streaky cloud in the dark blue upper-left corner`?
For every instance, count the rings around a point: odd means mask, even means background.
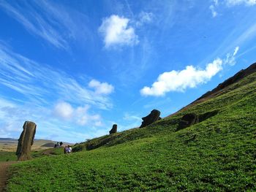
[[[15,1],[12,4],[10,1],[0,1],[1,7],[31,34],[45,39],[57,48],[67,50],[69,39],[87,32],[84,23],[80,25],[78,19],[75,20],[64,7],[57,7],[52,1]],[[72,15],[85,18],[85,15],[74,10]]]

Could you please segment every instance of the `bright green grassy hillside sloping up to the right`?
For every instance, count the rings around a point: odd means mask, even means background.
[[[256,191],[256,73],[146,128],[10,169],[8,191]],[[176,131],[187,112],[206,117]],[[86,150],[87,149],[87,150]]]

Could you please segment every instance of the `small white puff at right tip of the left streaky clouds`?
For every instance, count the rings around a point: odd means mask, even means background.
[[[113,85],[108,84],[108,82],[99,82],[97,80],[91,80],[89,82],[89,87],[95,89],[97,94],[110,94],[114,91]]]

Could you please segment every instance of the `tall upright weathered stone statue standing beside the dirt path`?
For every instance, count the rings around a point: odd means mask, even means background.
[[[23,125],[23,131],[18,139],[18,147],[16,155],[18,161],[26,161],[31,159],[31,145],[34,143],[34,135],[36,134],[37,125],[34,122],[26,121]]]

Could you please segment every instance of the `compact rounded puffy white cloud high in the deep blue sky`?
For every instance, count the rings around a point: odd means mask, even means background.
[[[138,36],[135,34],[135,28],[128,26],[129,19],[111,15],[102,20],[99,27],[99,33],[104,37],[105,47],[116,45],[136,45]]]

